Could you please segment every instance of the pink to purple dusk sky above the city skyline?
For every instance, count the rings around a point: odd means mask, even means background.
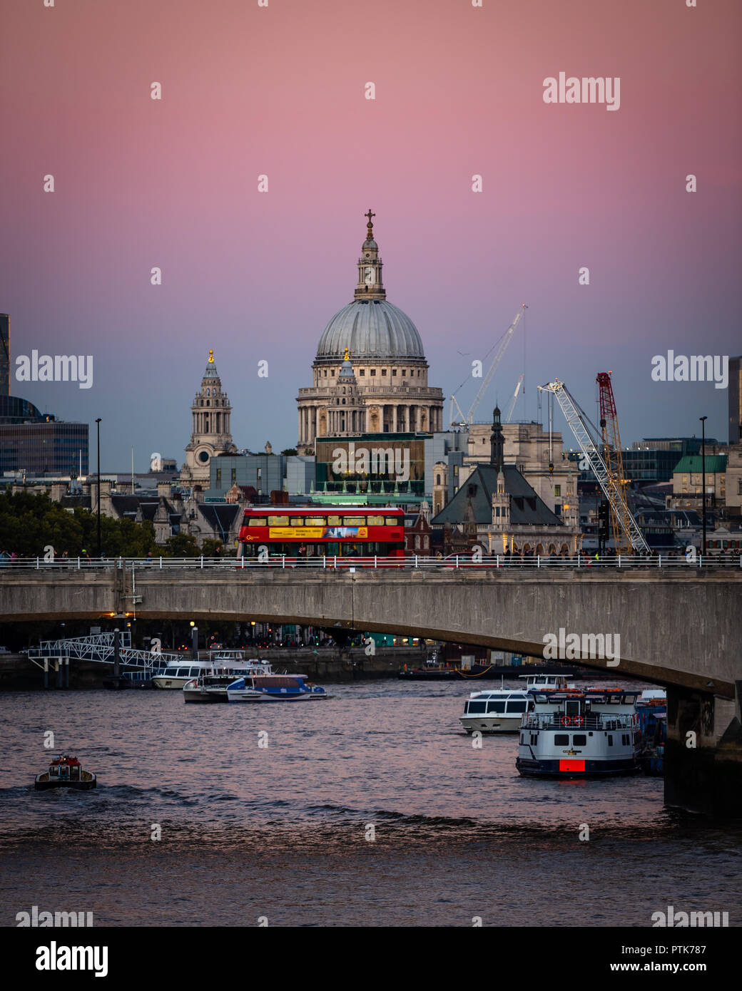
[[[624,445],[699,433],[703,414],[725,441],[726,390],[651,371],[669,349],[742,353],[742,6],[372,6],[369,21],[344,0],[6,3],[0,311],[14,358],[92,354],[94,377],[13,394],[89,422],[91,464],[102,417],[106,471],[132,446],[138,471],[153,451],[181,464],[213,348],[237,446],[295,446],[298,389],[352,299],[370,207],[446,422],[527,302],[525,347],[477,419],[507,408],[525,360],[515,418],[536,417],[556,376],[594,419],[595,375],[612,370]],[[619,76],[620,109],[546,104],[559,71]],[[576,446],[558,411],[555,427]]]

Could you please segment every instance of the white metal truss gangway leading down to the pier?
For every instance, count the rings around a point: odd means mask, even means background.
[[[118,646],[116,638],[118,637]],[[69,662],[93,661],[113,664],[129,670],[124,677],[132,681],[145,681],[165,671],[169,664],[183,660],[181,654],[162,653],[157,648],[137,650],[131,645],[131,631],[93,633],[90,636],[65,637],[61,640],[42,640],[38,647],[24,651],[32,664],[44,672],[44,687],[49,685],[49,673],[57,673],[57,687],[69,687]],[[118,655],[118,656],[117,656]]]

